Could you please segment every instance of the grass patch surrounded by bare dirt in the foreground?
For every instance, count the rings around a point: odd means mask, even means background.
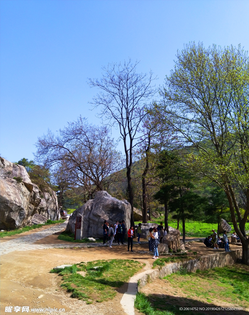
[[[138,261],[112,259],[81,262],[64,269],[52,269],[50,272],[62,276],[61,286],[71,292],[72,298],[90,304],[93,301],[113,299],[117,293],[115,289],[128,282],[141,268],[142,264]],[[84,271],[86,275],[82,276],[78,271]]]

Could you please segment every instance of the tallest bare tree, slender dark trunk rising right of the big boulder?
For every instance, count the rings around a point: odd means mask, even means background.
[[[133,148],[139,137],[138,128],[142,119],[147,115],[147,102],[155,95],[156,90],[152,83],[152,72],[147,74],[136,73],[136,61],[108,64],[103,67],[105,72],[100,80],[89,79],[91,87],[102,91],[93,98],[94,106],[102,106],[100,116],[113,126],[118,127],[120,138],[124,142],[126,157],[126,176],[128,181],[129,201],[131,204],[130,224],[134,226],[133,191],[131,183],[131,167]]]

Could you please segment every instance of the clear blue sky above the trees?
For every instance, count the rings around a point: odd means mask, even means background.
[[[0,5],[0,153],[12,162],[32,159],[37,137],[48,128],[56,132],[80,115],[100,123],[88,104],[97,90],[86,82],[101,77],[108,62],[140,60],[138,70],[151,69],[162,85],[184,43],[241,43],[249,49],[247,0],[1,0]]]

